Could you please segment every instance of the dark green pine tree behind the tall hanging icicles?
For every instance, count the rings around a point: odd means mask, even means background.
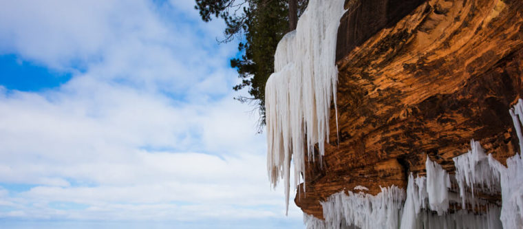
[[[279,40],[290,30],[295,30],[297,18],[306,7],[306,0],[196,0],[195,8],[204,21],[213,17],[226,23],[224,39],[241,41],[240,58],[231,59],[231,67],[238,72],[244,87],[252,97],[235,98],[249,102],[259,111],[259,130],[265,125],[265,83],[274,72],[274,54]]]

